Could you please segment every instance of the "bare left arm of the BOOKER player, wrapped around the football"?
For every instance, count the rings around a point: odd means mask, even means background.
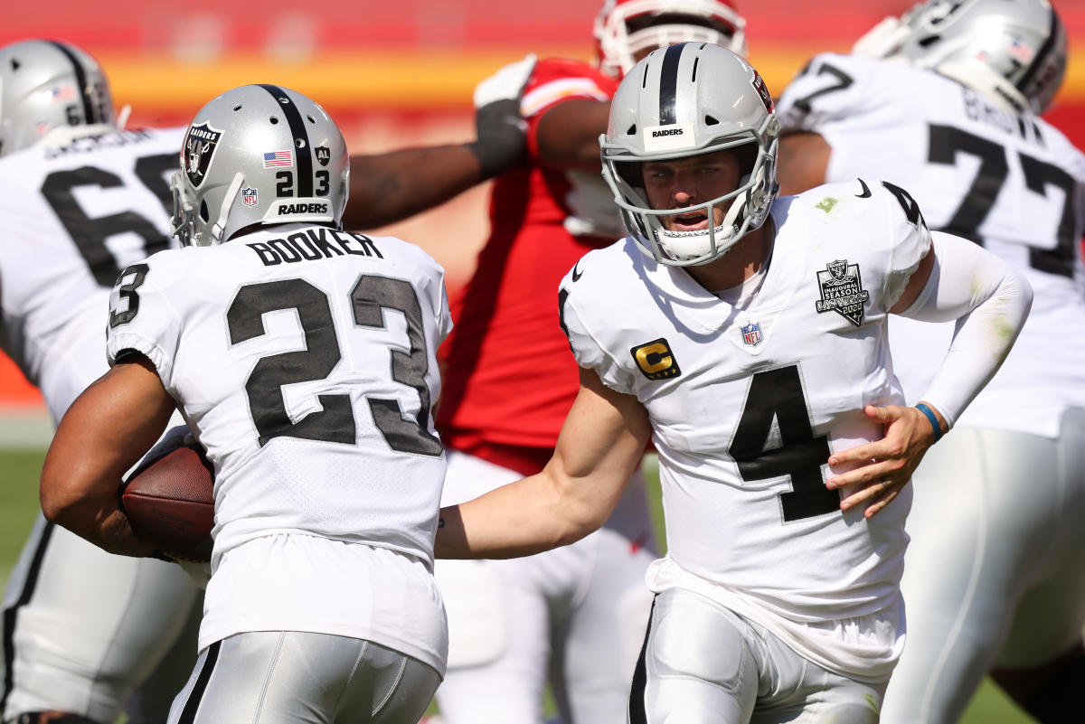
[[[41,509],[110,553],[148,556],[120,510],[120,480],[162,436],[175,410],[142,355],[116,364],[84,390],[56,428],[41,468]]]

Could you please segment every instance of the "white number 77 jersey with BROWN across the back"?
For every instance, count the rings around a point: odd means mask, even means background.
[[[1067,406],[1085,406],[1085,156],[1043,119],[899,62],[818,55],[783,92],[778,113],[786,131],[814,131],[832,146],[827,181],[899,184],[931,229],[982,244],[1029,280],[1029,320],[957,424],[1057,437]],[[954,325],[935,337],[912,320],[892,326],[897,374],[917,402]]]

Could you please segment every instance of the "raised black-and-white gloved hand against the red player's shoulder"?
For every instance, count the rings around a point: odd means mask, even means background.
[[[527,151],[527,124],[520,116],[520,96],[535,70],[529,54],[510,63],[475,87],[475,141],[468,147],[478,157],[484,179],[519,164]]]

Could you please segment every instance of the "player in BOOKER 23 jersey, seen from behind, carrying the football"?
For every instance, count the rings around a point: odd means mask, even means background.
[[[413,724],[448,643],[430,413],[444,271],[398,238],[341,231],[346,144],[299,93],[228,91],[183,147],[184,248],[122,272],[112,366],[58,427],[46,517],[152,554],[117,488],[181,410],[215,466],[215,548],[200,656],[169,721]]]

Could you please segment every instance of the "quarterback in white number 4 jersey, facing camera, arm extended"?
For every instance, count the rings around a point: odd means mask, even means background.
[[[668,552],[629,721],[872,724],[904,643],[905,486],[1009,350],[1029,285],[932,237],[891,183],[776,201],[773,101],[728,50],[653,51],[611,108],[604,177],[629,236],[561,283],[576,401],[542,473],[443,509],[437,554],[580,539],[651,438]],[[917,406],[890,313],[960,325]]]

